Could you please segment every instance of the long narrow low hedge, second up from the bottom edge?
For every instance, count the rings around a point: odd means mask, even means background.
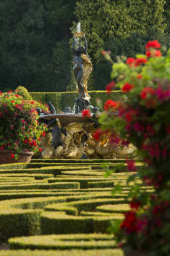
[[[41,235],[9,239],[10,249],[113,249],[115,241],[111,235]]]

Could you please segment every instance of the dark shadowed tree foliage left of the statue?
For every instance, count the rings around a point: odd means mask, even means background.
[[[67,0],[1,1],[2,90],[19,84],[30,91],[65,90],[74,6]]]

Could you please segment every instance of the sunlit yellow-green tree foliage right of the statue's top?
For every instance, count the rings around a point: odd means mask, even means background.
[[[101,50],[108,38],[127,38],[134,32],[146,34],[147,28],[164,31],[163,7],[165,1],[92,0],[77,1],[75,14],[82,21],[89,40],[89,54],[101,59]],[[73,26],[74,28],[74,26]]]

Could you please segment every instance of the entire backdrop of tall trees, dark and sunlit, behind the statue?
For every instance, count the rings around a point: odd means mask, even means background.
[[[170,47],[170,0],[1,0],[1,90],[75,90],[71,30],[77,21],[93,62],[89,90],[104,90],[110,80],[101,50],[116,60],[145,53],[148,40]]]

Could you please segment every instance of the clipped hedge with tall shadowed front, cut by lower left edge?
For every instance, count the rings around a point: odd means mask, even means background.
[[[0,202],[0,240],[7,241],[9,237],[39,235],[40,216],[45,205],[54,202],[64,202],[64,197],[27,198],[4,200]]]

